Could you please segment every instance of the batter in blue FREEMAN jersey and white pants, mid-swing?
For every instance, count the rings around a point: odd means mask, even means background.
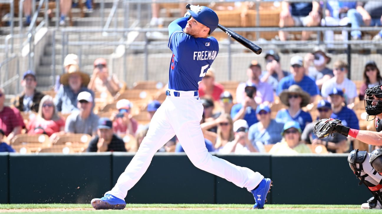
[[[168,48],[172,50],[167,98],[154,114],[147,136],[138,152],[118,178],[115,187],[102,198],[91,201],[95,209],[123,209],[124,198],[146,172],[154,153],[175,134],[191,162],[199,169],[225,178],[252,192],[263,208],[271,180],[259,172],[235,166],[208,153],[200,128],[203,106],[198,86],[219,51],[214,37],[209,37],[218,23],[217,14],[206,6],[192,6],[190,15],[168,26]]]

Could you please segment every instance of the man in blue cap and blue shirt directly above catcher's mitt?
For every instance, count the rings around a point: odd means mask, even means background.
[[[332,102],[333,110],[333,113],[330,115],[330,117],[341,120],[344,126],[359,130],[357,115],[353,110],[343,106],[343,102],[345,101],[343,91],[339,88],[333,88],[333,90],[329,93],[329,96],[330,101]]]

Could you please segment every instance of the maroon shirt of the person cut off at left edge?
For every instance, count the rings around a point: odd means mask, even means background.
[[[3,129],[5,136],[8,136],[17,126],[25,126],[19,110],[4,106],[4,109],[0,112],[0,129]]]

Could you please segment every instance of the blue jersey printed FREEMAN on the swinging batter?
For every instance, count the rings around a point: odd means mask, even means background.
[[[194,38],[183,32],[188,17],[176,19],[168,26],[168,48],[172,50],[168,89],[197,91],[207,70],[219,52],[214,37]]]

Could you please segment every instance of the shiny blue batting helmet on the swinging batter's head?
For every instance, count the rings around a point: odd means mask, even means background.
[[[210,34],[219,24],[219,18],[214,10],[206,6],[200,6],[196,11],[188,11],[191,16],[198,22],[204,24],[210,29]]]

